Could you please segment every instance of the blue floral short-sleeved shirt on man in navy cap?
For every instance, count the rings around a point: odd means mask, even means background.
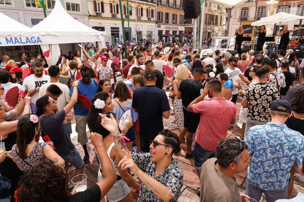
[[[294,162],[302,164],[304,136],[285,124],[268,122],[251,127],[245,142],[251,155],[248,180],[262,190],[283,190]]]

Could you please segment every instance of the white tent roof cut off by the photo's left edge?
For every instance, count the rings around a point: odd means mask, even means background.
[[[1,22],[5,22],[5,27],[1,29],[0,36],[6,37],[6,36],[19,36],[19,35],[39,35],[39,32],[33,32],[30,30],[30,28],[26,25],[21,24],[20,22],[17,22],[16,20],[8,17],[7,15],[4,15],[0,12],[0,19]]]

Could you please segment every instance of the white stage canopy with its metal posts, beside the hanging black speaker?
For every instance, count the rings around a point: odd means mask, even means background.
[[[201,18],[201,33],[200,34],[200,41],[199,41],[199,48],[202,48],[202,41],[203,41],[203,27],[204,27],[204,22],[205,22],[205,15],[204,15],[204,10],[205,10],[205,2],[207,3],[212,3],[216,5],[221,5],[226,8],[232,8],[230,15],[233,16],[234,8],[239,6],[240,4],[247,2],[248,0],[229,0],[229,1],[223,1],[223,0],[205,0],[203,2],[202,6],[202,18]],[[230,44],[230,38],[231,38],[231,29],[232,29],[232,17],[230,18],[229,22],[229,31],[228,31],[228,41],[227,41],[227,46]]]

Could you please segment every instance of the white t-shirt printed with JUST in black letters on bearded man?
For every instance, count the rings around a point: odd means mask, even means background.
[[[31,91],[33,90],[34,88],[38,88],[38,87],[41,87],[43,84],[46,84],[47,82],[50,82],[50,76],[48,75],[45,75],[43,74],[42,77],[40,78],[36,78],[33,74],[26,77],[23,81],[23,84],[22,84],[22,91],[25,90],[25,85],[28,86],[28,90]],[[38,100],[39,98],[39,94],[38,93],[34,93],[32,96],[32,102],[34,104],[36,104],[36,101]]]

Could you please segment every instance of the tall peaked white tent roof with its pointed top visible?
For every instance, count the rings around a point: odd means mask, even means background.
[[[62,22],[62,19],[64,23],[59,26],[58,23]],[[97,31],[74,19],[62,7],[60,0],[56,0],[53,11],[31,30],[42,31],[43,35],[56,36],[105,35],[105,31]]]

